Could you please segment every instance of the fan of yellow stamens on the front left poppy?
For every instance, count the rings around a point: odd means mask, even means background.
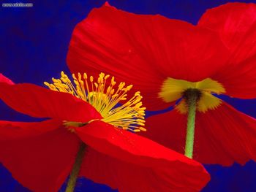
[[[115,78],[110,78],[109,74],[105,75],[104,73],[100,73],[95,82],[94,77],[88,78],[86,73],[83,74],[83,77],[80,73],[77,76],[72,74],[72,77],[73,82],[69,80],[67,74],[61,72],[60,79],[52,78],[53,83],[44,82],[44,84],[50,90],[70,93],[78,99],[88,102],[102,115],[102,121],[106,123],[130,131],[146,131],[146,128],[142,127],[145,126],[146,107],[142,107],[140,92],[136,92],[127,101],[127,92],[131,90],[132,85],[125,86],[125,82],[121,82],[115,89]],[[120,104],[121,101],[126,102]],[[81,126],[84,123],[65,122],[64,124]]]

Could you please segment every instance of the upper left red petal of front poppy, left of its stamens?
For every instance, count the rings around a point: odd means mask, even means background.
[[[0,84],[0,99],[18,112],[35,118],[56,118],[78,122],[99,119],[90,104],[69,93],[59,93],[32,84]]]

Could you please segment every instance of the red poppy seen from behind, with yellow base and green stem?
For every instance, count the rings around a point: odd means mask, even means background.
[[[255,118],[214,93],[256,97],[255,39],[255,4],[209,9],[196,26],[106,4],[76,26],[67,63],[72,72],[101,69],[132,83],[149,110],[180,101],[175,110],[148,118],[149,138],[184,153],[188,116],[188,156],[195,126],[193,158],[206,164],[244,164],[256,160]]]

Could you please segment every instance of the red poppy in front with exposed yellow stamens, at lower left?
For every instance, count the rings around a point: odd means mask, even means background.
[[[105,74],[96,82],[87,82],[86,74],[73,77],[73,85],[64,73],[53,84],[45,82],[51,91],[0,75],[1,100],[18,112],[48,118],[0,121],[0,162],[18,182],[32,191],[58,191],[80,166],[80,176],[119,191],[200,191],[206,185],[209,175],[201,164],[131,132],[145,131],[140,93],[113,106],[132,86],[121,83],[114,91],[115,80],[108,86]]]

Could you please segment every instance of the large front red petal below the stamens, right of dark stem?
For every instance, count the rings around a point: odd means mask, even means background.
[[[86,153],[81,174],[119,191],[199,191],[209,180],[196,161],[100,120],[76,131],[98,151]]]

